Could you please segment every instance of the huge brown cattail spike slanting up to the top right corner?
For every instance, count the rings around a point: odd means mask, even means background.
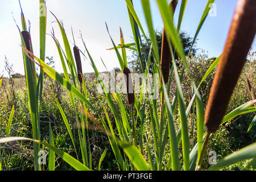
[[[205,126],[214,133],[221,124],[230,96],[246,61],[256,32],[256,1],[240,0],[214,77],[205,111]]]

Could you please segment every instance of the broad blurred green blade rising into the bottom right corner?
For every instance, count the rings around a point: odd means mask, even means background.
[[[250,144],[249,146],[244,147],[241,150],[238,150],[233,154],[226,156],[224,159],[222,159],[220,162],[218,162],[214,166],[210,167],[208,170],[214,171],[214,170],[221,169],[225,166],[228,166],[230,164],[236,164],[242,160],[256,158],[255,151],[256,151],[256,143]]]

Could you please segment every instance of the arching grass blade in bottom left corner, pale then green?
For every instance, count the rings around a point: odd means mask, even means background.
[[[60,156],[60,158],[62,158],[65,162],[67,162],[70,166],[72,166],[76,170],[90,171],[90,169],[88,167],[84,166],[84,164],[80,163],[78,160],[73,158],[71,155],[67,154],[66,152],[63,152],[62,150],[59,150],[59,148],[56,148],[47,142],[41,142],[39,140],[25,138],[25,137],[9,137],[9,138],[1,138],[0,143],[13,142],[13,141],[17,141],[17,140],[29,140],[29,141],[33,141],[36,143],[40,143],[40,144],[46,146],[47,148],[49,148],[50,150],[54,151],[57,155]]]

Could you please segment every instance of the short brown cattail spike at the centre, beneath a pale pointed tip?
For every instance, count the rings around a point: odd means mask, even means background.
[[[125,84],[128,96],[128,103],[130,106],[134,105],[134,90],[133,90],[133,80],[131,79],[131,72],[129,68],[123,68],[123,75],[125,76]]]

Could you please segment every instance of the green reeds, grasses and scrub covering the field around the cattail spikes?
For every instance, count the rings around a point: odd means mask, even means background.
[[[45,4],[44,0],[39,2],[42,6]],[[125,2],[134,43],[125,43],[121,29],[120,42],[114,43],[106,26],[113,44],[110,51],[115,51],[117,55],[120,73],[127,67],[129,58],[126,51],[131,49],[138,58],[134,62],[136,68],[131,67],[132,73],[137,73],[141,65],[139,72],[144,73],[145,78],[150,77],[150,73],[162,75],[161,36],[155,34],[152,26],[150,1],[141,1],[149,37],[144,33],[132,1]],[[191,50],[209,13],[209,4],[214,0],[209,0],[205,10],[202,10],[196,35],[193,40],[186,39],[185,49],[185,40],[180,39],[184,33],[179,34],[179,29],[187,1],[181,2],[180,11],[175,11],[179,13],[177,29],[171,18],[174,12],[167,2],[156,2],[163,18],[168,45],[172,48],[170,77],[164,83],[163,76],[152,76],[152,82],[149,82],[152,94],[143,92],[146,87],[146,79],[143,78],[140,91],[133,98],[134,104],[128,101],[127,94],[118,92],[117,86],[114,93],[108,92],[108,85],[98,72],[82,36],[80,41],[84,47],[72,49],[63,24],[53,13],[45,12],[39,17],[40,55],[34,55],[22,13],[22,28],[18,26],[18,31],[25,77],[14,74],[6,59],[10,78],[0,78],[0,170],[196,169],[199,156],[204,152],[204,111],[221,56],[211,59],[204,52],[196,56]],[[46,7],[40,7],[42,10],[46,11]],[[61,38],[56,38],[54,34],[51,36],[63,73],[55,71],[52,57],[46,57],[47,16],[56,18],[61,31]],[[84,73],[81,77],[81,67],[77,69],[79,50],[80,55],[90,61],[94,73]],[[36,68],[39,67],[37,75]],[[255,170],[256,129],[253,125],[256,108],[245,77],[249,77],[251,87],[255,88],[255,67],[256,60],[246,61],[222,125],[210,135],[202,170]],[[98,92],[99,87],[103,93]],[[158,92],[158,98],[152,97]],[[48,153],[46,163],[39,163],[42,162],[38,155],[40,151]],[[214,162],[217,164],[209,163],[210,151],[216,152],[217,161]]]

